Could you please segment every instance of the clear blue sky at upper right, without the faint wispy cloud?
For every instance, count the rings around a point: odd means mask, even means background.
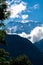
[[[36,9],[32,9],[30,19],[43,22],[43,0],[26,0],[26,2],[28,3],[28,7],[32,7],[35,4],[39,5],[37,5]]]

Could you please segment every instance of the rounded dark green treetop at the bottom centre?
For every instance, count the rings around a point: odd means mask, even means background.
[[[10,63],[10,65],[32,65],[26,55],[18,56],[17,58],[12,59]]]

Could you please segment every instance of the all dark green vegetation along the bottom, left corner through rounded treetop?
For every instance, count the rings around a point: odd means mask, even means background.
[[[9,53],[0,49],[0,65],[32,65],[26,55],[11,58]]]

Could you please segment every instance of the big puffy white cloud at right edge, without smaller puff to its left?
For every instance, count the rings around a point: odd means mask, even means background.
[[[31,31],[30,36],[31,36],[30,40],[33,43],[43,39],[43,27],[37,26],[36,28],[34,28]]]

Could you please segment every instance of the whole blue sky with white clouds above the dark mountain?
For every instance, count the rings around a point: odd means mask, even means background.
[[[4,22],[8,34],[18,34],[32,43],[43,39],[43,0],[7,0],[11,15]]]

